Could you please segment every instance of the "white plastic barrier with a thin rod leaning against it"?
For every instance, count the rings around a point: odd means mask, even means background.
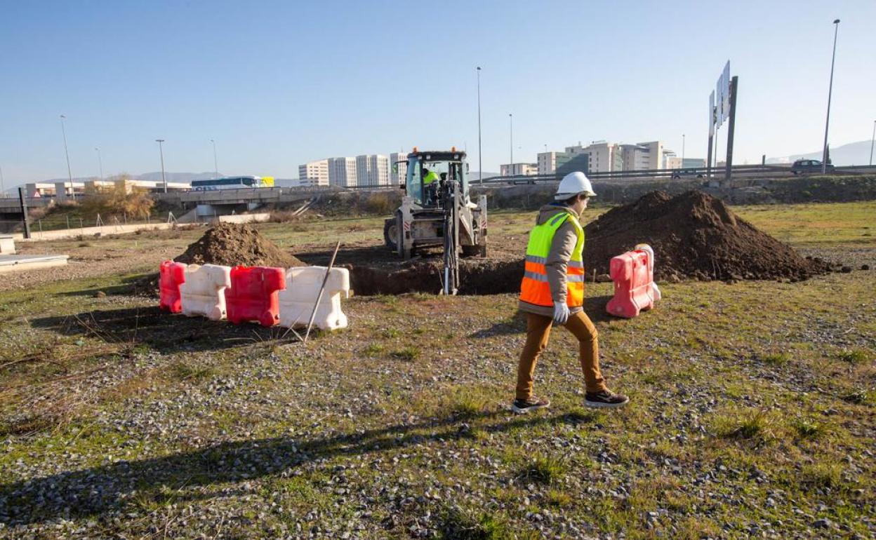
[[[286,270],[286,290],[279,291],[279,324],[287,328],[307,326],[320,294],[325,266],[300,266]],[[347,316],[341,311],[341,296],[350,298],[350,270],[333,268],[329,272],[320,305],[316,308],[314,326],[321,330],[347,327]]]

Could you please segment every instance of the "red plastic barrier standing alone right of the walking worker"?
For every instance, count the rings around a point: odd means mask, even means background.
[[[632,319],[660,300],[660,289],[653,283],[653,260],[653,249],[646,244],[611,258],[614,298],[605,305],[609,313]]]

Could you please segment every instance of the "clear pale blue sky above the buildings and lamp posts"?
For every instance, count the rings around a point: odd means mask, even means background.
[[[582,141],[705,157],[710,90],[739,76],[737,162],[821,148],[834,18],[833,146],[876,119],[876,2],[18,2],[0,0],[6,186],[467,146],[484,170]],[[726,124],[725,124],[726,125]],[[720,135],[724,146],[725,132]],[[519,147],[519,148],[518,148]]]

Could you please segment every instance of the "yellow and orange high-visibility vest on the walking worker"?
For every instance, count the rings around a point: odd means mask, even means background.
[[[536,225],[529,233],[529,243],[526,245],[526,270],[520,283],[520,300],[546,307],[554,305],[545,263],[548,262],[551,242],[554,241],[557,229],[567,220],[575,227],[578,240],[566,265],[566,305],[569,307],[584,305],[584,229],[577,218],[567,212],[556,214],[548,221]]]

